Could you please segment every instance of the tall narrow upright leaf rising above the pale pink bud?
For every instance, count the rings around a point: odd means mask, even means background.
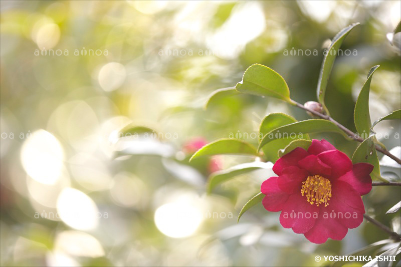
[[[317,99],[319,100],[320,104],[322,104],[327,115],[329,115],[329,112],[324,104],[324,96],[326,93],[331,69],[333,68],[334,60],[337,57],[337,52],[341,47],[342,42],[349,32],[357,25],[359,25],[359,23],[354,23],[339,31],[331,41],[331,45],[327,51],[327,54],[324,56],[322,67],[320,69],[319,80],[317,83]]]

